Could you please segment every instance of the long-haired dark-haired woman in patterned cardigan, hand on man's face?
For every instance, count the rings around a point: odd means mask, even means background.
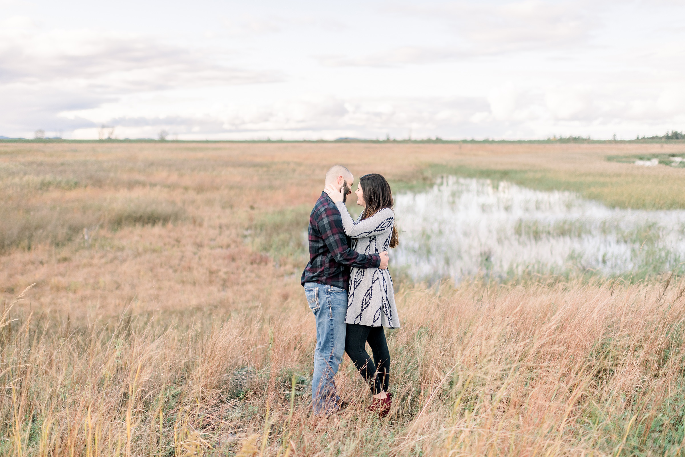
[[[377,173],[364,175],[357,186],[357,204],[364,207],[354,221],[347,212],[343,194],[329,184],[326,193],[336,203],[351,248],[360,254],[387,251],[397,246],[393,194],[386,179]],[[399,328],[393,280],[388,270],[353,268],[349,279],[345,352],[371,386],[371,409],[381,417],[388,414],[392,394],[388,393],[390,353],[383,328]],[[373,360],[366,353],[368,342]]]

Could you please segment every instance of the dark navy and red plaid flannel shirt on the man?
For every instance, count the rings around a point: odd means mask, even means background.
[[[349,248],[349,238],[336,204],[325,192],[316,201],[309,217],[309,263],[302,273],[302,285],[318,282],[349,287],[349,268],[378,268],[378,254],[359,254]]]

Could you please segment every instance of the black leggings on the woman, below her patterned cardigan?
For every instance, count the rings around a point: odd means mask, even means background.
[[[366,353],[366,341],[371,346],[373,360]],[[357,367],[364,380],[369,383],[373,395],[381,393],[381,391],[388,391],[390,352],[388,352],[388,343],[386,343],[385,332],[382,327],[369,327],[369,325],[358,325],[356,323],[347,324],[345,352],[352,359],[354,366]],[[374,360],[375,364],[373,363]]]

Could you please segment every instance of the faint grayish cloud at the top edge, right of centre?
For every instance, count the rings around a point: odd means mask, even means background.
[[[364,55],[316,55],[325,66],[396,66],[463,60],[586,45],[597,19],[579,2],[524,0],[503,5],[454,3],[405,6],[401,12],[439,23],[453,38],[440,46],[401,46]]]

